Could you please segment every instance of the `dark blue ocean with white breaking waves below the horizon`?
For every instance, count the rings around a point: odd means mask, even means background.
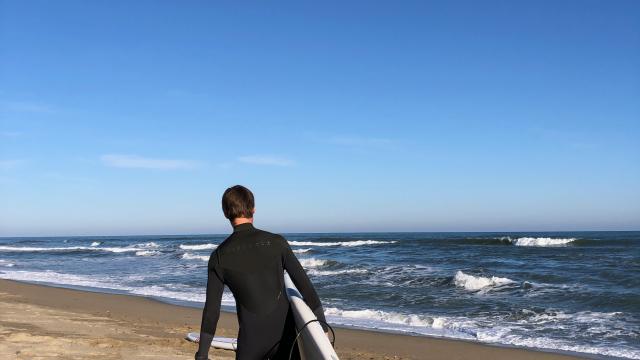
[[[640,232],[283,235],[331,324],[640,359]],[[0,238],[0,278],[201,307],[226,236]]]

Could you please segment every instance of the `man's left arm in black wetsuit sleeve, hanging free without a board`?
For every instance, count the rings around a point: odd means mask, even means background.
[[[216,332],[220,317],[220,300],[224,291],[222,271],[218,261],[218,252],[214,251],[207,266],[207,299],[202,310],[202,325],[200,325],[200,342],[196,360],[207,360],[211,340]]]

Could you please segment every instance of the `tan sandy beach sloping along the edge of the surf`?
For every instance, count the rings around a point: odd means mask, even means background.
[[[136,351],[157,354],[154,356],[156,358],[191,359],[197,346],[184,337],[187,332],[199,331],[202,316],[200,308],[145,296],[6,279],[0,279],[0,304],[3,310],[9,310],[0,315],[0,339],[3,340],[0,341],[0,357],[15,356],[15,359],[37,358],[37,354],[29,351],[41,349],[51,352],[52,347],[57,349],[54,352],[58,352],[62,359],[92,358],[93,355],[82,352],[82,349],[88,344],[93,344],[89,349],[94,349],[96,342],[99,343],[97,348],[104,350],[96,355],[96,359],[134,359],[144,356]],[[51,322],[43,326],[41,317],[33,316],[34,313],[48,314]],[[84,321],[67,324],[66,327],[58,326],[78,316]],[[115,332],[109,332],[114,328]],[[97,336],[100,331],[96,332],[96,329],[107,333],[107,336]],[[603,358],[376,329],[344,326],[334,326],[334,329],[336,351],[341,359]],[[221,312],[216,335],[236,337],[237,331],[235,313]],[[42,341],[36,341],[34,345],[30,343],[32,338]],[[69,338],[75,340],[69,343]],[[73,355],[72,348],[79,349],[83,355]],[[172,354],[166,357],[169,353]],[[234,358],[231,351],[212,349],[210,354],[211,357]]]

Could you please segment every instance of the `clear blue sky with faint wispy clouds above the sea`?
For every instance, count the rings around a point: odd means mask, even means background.
[[[0,0],[0,236],[640,230],[638,1]]]

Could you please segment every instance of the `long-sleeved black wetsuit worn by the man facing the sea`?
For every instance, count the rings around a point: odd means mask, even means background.
[[[240,324],[236,359],[288,359],[296,330],[284,289],[284,270],[316,317],[325,321],[318,294],[289,243],[250,223],[234,227],[233,234],[209,258],[207,300],[196,359],[207,359],[224,285],[236,299]],[[297,350],[294,353],[297,355]]]

